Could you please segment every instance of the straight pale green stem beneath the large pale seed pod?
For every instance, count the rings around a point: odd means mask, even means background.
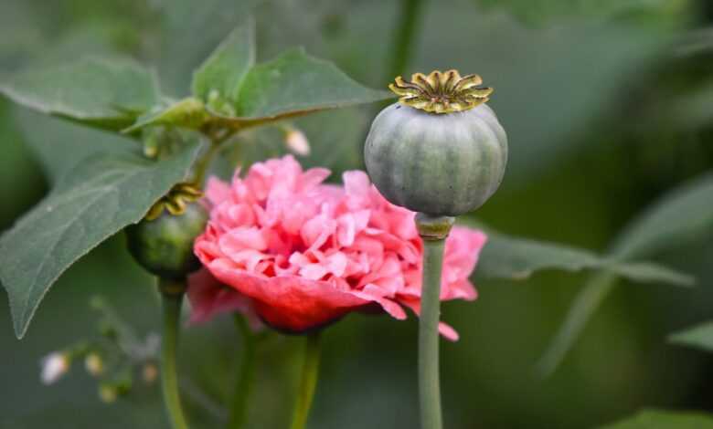
[[[416,215],[423,239],[423,281],[420,295],[419,397],[421,429],[442,429],[439,333],[443,247],[453,218]]]

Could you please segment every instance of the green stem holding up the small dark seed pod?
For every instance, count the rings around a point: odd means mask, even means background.
[[[181,304],[186,290],[185,280],[175,281],[161,278],[161,290],[164,325],[161,350],[161,387],[164,392],[164,404],[168,419],[173,429],[188,429],[186,417],[178,394],[176,375],[176,349],[178,346],[178,328],[181,317]]]

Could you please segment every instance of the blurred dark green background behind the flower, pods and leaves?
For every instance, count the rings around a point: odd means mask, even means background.
[[[117,53],[154,66],[165,92],[183,96],[191,71],[251,13],[259,59],[303,45],[367,86],[384,88],[393,78],[399,19],[412,3],[3,0],[0,78]],[[511,158],[501,191],[477,214],[488,225],[603,252],[665,191],[713,169],[708,0],[420,4],[404,71],[458,68],[495,87],[490,105],[508,132]],[[375,109],[297,120],[313,147],[303,164],[328,166],[335,180],[361,168]],[[284,152],[274,129],[246,139],[249,159]],[[0,99],[0,230],[48,191],[57,165],[121,144]],[[136,382],[130,395],[104,404],[79,366],[55,385],[39,382],[43,355],[96,330],[93,295],[140,332],[157,330],[152,280],[133,265],[123,240],[112,238],[59,279],[24,340],[12,332],[6,300],[0,305],[0,427],[166,427],[156,385]],[[665,341],[713,316],[713,241],[673,246],[657,260],[697,276],[697,288],[622,282],[559,371],[544,380],[535,363],[587,273],[547,272],[519,282],[476,277],[476,302],[443,309],[461,333],[459,342],[442,346],[447,427],[588,428],[648,406],[713,411],[713,357]],[[326,330],[310,427],[418,427],[416,330],[415,318],[361,315]],[[218,427],[239,337],[228,318],[185,332],[180,359],[196,427]],[[261,343],[250,427],[287,426],[300,344],[277,334]]]

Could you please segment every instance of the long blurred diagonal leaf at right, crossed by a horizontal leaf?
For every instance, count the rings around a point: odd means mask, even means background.
[[[713,236],[713,173],[665,194],[624,229],[612,245],[617,260],[653,256],[668,246]],[[612,290],[617,276],[591,277],[574,299],[564,322],[538,363],[539,371],[557,369],[587,321]]]

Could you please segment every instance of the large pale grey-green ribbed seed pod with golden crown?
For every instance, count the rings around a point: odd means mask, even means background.
[[[399,102],[371,124],[364,157],[371,181],[388,201],[432,216],[474,210],[505,174],[507,137],[484,104],[493,92],[478,75],[455,70],[396,78]]]

